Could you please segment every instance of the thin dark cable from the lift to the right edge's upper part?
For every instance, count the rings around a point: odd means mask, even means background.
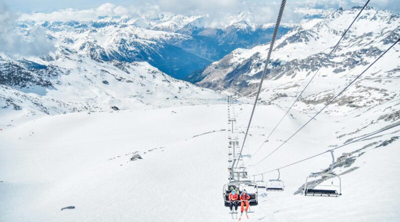
[[[364,74],[373,64],[375,64],[376,61],[378,61],[384,54],[386,54],[387,51],[389,51],[395,44],[397,44],[400,41],[400,38],[398,38],[393,44],[390,45],[382,54],[380,54],[372,63],[368,65],[359,75],[357,75],[349,84],[347,84],[346,87],[344,87],[333,99],[331,99],[322,109],[320,109],[314,116],[312,116],[304,125],[302,125],[296,132],[294,132],[289,138],[287,138],[283,143],[281,143],[276,149],[274,149],[272,152],[270,152],[266,157],[264,157],[262,160],[258,161],[254,165],[255,166],[262,161],[264,161],[266,158],[268,158],[270,155],[272,155],[275,151],[277,151],[279,148],[281,148],[287,141],[289,141],[291,138],[294,137],[300,130],[302,130],[309,122],[311,122],[319,113],[321,113],[328,105],[330,105],[334,100],[337,99],[350,85],[352,85],[355,80],[357,80],[362,74]]]

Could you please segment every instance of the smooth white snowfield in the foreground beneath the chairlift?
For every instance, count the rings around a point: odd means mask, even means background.
[[[234,106],[242,131],[252,107],[239,101]],[[398,105],[361,108],[344,116],[321,114],[265,163],[248,167],[249,174],[275,169],[389,125],[382,120],[360,127],[388,106]],[[67,113],[6,128],[0,132],[0,221],[234,221],[222,197],[228,178],[226,110],[226,104],[213,104]],[[244,154],[258,148],[273,127],[270,123],[284,112],[274,104],[257,107]],[[258,152],[259,158],[309,118],[295,110],[291,114],[270,138],[272,145]],[[326,154],[282,169],[284,191],[259,189],[258,206],[250,207],[254,213],[241,220],[397,221],[400,151],[393,137],[398,130],[335,151],[338,157],[373,143],[353,154],[349,166],[334,169],[340,174],[355,168],[340,176],[342,196],[293,195],[310,172],[329,167]],[[130,161],[136,152],[142,159]],[[275,178],[276,173],[271,173],[264,180]],[[68,206],[75,209],[60,211]]]

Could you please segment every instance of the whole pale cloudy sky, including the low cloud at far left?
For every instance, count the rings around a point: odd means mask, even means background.
[[[363,5],[366,0],[287,0],[283,23],[297,23],[303,15],[295,8],[344,9]],[[52,50],[44,32],[32,30],[31,39],[20,39],[15,29],[20,20],[94,20],[97,16],[156,16],[159,13],[205,15],[204,26],[220,27],[239,12],[256,24],[274,22],[280,0],[0,0],[0,49],[19,54],[45,54]],[[400,0],[371,0],[370,6],[400,11]],[[40,42],[31,44],[30,42]],[[48,43],[48,44],[46,44]],[[48,47],[47,47],[47,46]],[[45,47],[44,47],[45,46]]]

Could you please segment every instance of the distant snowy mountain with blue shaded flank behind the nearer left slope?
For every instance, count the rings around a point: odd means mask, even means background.
[[[146,61],[174,78],[182,79],[186,73],[210,62],[174,45],[190,40],[190,36],[136,27],[129,24],[129,19],[23,24],[22,29],[27,33],[38,26],[46,27],[49,38],[64,51],[87,54],[102,61]]]

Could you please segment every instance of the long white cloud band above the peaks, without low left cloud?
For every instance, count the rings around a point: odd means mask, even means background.
[[[287,1],[282,22],[298,22],[302,15],[294,11],[297,7],[337,9],[349,8],[354,5],[364,4],[364,0],[296,0]],[[51,13],[22,14],[20,20],[47,20],[68,21],[95,20],[98,16],[157,16],[159,13],[177,13],[204,15],[207,19],[205,26],[217,27],[231,22],[233,15],[240,12],[247,21],[256,24],[274,22],[280,0],[136,0],[128,6],[118,6],[104,3],[97,8],[77,10],[73,8],[61,9]],[[371,5],[380,8],[399,8],[398,0],[371,1]]]

